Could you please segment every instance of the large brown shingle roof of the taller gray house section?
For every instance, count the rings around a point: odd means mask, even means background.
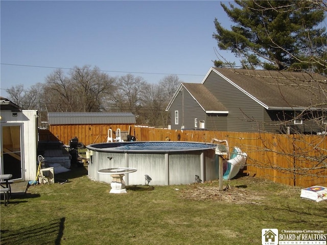
[[[319,74],[212,67],[201,84],[212,71],[268,110],[327,108],[321,105],[326,101],[326,78]]]

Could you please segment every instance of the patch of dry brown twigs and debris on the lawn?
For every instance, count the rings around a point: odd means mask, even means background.
[[[217,186],[190,185],[189,188],[181,190],[181,197],[188,200],[215,200],[235,204],[260,204],[265,198],[259,193],[253,193],[235,186],[224,186],[223,191]]]

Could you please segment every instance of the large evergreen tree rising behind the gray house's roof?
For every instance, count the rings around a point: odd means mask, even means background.
[[[323,1],[235,1],[240,8],[221,3],[235,22],[231,30],[215,18],[213,38],[221,50],[241,59],[243,68],[310,70],[325,74],[327,33]],[[218,67],[229,62],[215,60]]]

